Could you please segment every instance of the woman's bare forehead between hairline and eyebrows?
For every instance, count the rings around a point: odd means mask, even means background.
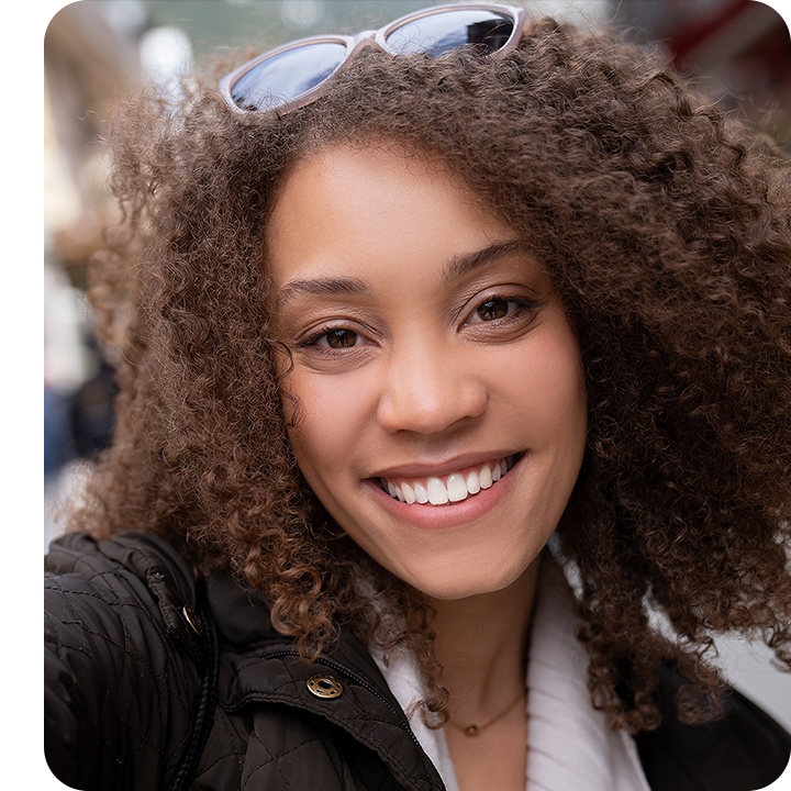
[[[400,148],[343,145],[300,160],[286,178],[267,225],[267,259],[277,287],[367,263],[444,265],[515,236],[438,164]]]

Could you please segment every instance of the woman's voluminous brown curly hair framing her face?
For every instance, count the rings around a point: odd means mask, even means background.
[[[594,704],[616,727],[656,726],[659,661],[713,701],[713,637],[732,630],[790,669],[788,160],[655,54],[552,20],[497,64],[366,52],[286,114],[230,111],[215,88],[229,67],[176,107],[138,96],[112,126],[122,216],[91,298],[121,392],[74,524],[156,531],[200,572],[230,569],[309,655],[348,624],[408,640],[438,678],[426,605],[300,476],[267,308],[264,232],[290,168],[321,146],[392,142],[523,236],[579,337],[589,437],[557,541]],[[401,613],[386,637],[382,612]]]

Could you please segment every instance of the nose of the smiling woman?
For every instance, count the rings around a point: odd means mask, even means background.
[[[458,349],[438,354],[421,346],[393,355],[386,382],[377,420],[388,433],[441,434],[480,416],[489,400],[484,381]]]

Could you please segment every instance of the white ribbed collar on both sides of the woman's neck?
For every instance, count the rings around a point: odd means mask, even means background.
[[[420,715],[424,688],[414,658],[399,654],[386,666],[380,651],[371,650],[371,655],[447,791],[459,791],[444,732],[426,727]],[[650,791],[634,739],[624,731],[612,731],[606,716],[590,704],[587,667],[584,649],[575,637],[568,584],[545,557],[528,649],[525,788]]]

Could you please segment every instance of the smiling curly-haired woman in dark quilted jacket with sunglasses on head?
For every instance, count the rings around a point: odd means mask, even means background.
[[[789,736],[791,185],[508,7],[115,122],[113,447],[48,558],[76,788],[751,789]]]

